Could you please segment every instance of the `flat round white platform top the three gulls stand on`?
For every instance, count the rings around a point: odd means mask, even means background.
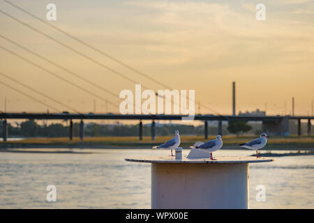
[[[129,162],[158,162],[158,163],[249,163],[249,162],[273,162],[269,157],[250,157],[250,156],[219,156],[216,160],[210,158],[188,159],[186,156],[176,160],[174,156],[148,156],[128,158]]]

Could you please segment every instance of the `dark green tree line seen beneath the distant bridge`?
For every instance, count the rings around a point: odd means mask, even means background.
[[[10,137],[68,137],[69,128],[68,121],[66,125],[61,123],[50,123],[49,125],[39,125],[34,120],[24,121],[17,126],[8,123],[8,135]],[[253,127],[252,127],[252,126]],[[251,124],[243,121],[229,122],[228,125],[223,125],[223,135],[225,134],[260,134],[261,125]],[[80,123],[74,122],[74,136],[80,135]],[[2,136],[2,126],[0,128],[0,136]],[[179,130],[180,134],[185,135],[204,135],[204,125],[178,125],[178,124],[163,124],[156,123],[156,136],[167,136],[174,134],[174,130]],[[218,126],[208,126],[208,134],[217,134]],[[84,136],[87,137],[105,137],[105,136],[137,136],[139,134],[139,125],[110,125],[98,123],[85,123]],[[151,135],[151,125],[143,125],[143,135]]]

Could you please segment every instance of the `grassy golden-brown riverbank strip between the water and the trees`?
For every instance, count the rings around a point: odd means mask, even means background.
[[[214,139],[215,136],[209,136]],[[155,141],[151,137],[143,137],[142,141],[138,137],[86,137],[83,141],[79,138],[69,140],[66,137],[60,138],[31,138],[20,141],[1,142],[0,148],[151,148],[162,144],[172,137],[156,137]],[[224,149],[239,149],[239,144],[256,136],[225,136],[223,137]],[[196,141],[205,141],[204,137],[183,136],[181,146],[188,148]],[[300,150],[314,151],[314,137],[271,137],[264,149],[271,150]]]

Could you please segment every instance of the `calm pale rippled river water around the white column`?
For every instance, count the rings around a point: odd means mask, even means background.
[[[0,208],[150,208],[151,164],[124,159],[170,154],[149,149],[73,151],[92,153],[0,153]],[[46,201],[47,185],[56,185],[56,202]],[[265,202],[255,199],[257,185],[266,187]],[[250,208],[314,208],[313,185],[313,155],[250,164]]]

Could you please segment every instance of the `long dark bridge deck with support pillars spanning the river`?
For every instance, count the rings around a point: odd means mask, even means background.
[[[181,120],[186,115],[165,115],[165,114],[71,114],[63,113],[0,113],[3,123],[3,141],[8,137],[7,119],[50,119],[70,120],[69,139],[73,139],[73,120],[80,120],[80,139],[84,137],[84,120],[139,120],[139,139],[142,140],[142,120],[151,120],[151,138],[155,139],[155,120]],[[308,136],[311,136],[311,120],[314,116],[216,116],[216,115],[195,115],[194,120],[204,121],[204,138],[208,137],[207,121],[218,121],[218,134],[223,133],[222,121],[262,121],[263,131],[270,134],[289,134],[289,120],[298,121],[298,135],[301,135],[301,120],[308,120]]]

